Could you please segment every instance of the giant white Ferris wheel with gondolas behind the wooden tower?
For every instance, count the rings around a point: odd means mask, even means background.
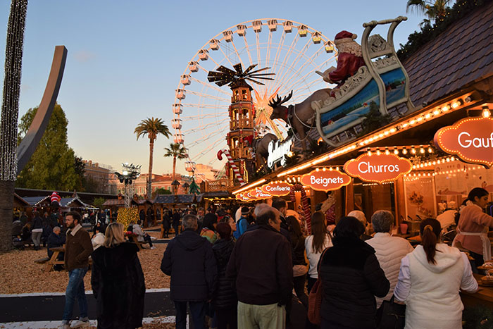
[[[274,80],[254,89],[256,128],[283,139],[286,123],[270,120],[270,99],[293,91],[290,104],[303,101],[318,89],[327,87],[316,70],[337,66],[334,43],[322,32],[306,24],[279,18],[249,20],[218,33],[199,49],[180,76],[172,106],[173,140],[188,149],[185,168],[192,171],[195,163],[213,166],[216,152],[227,147],[230,130],[228,107],[232,92],[208,82],[207,75],[219,66],[243,68],[256,65],[275,73]]]

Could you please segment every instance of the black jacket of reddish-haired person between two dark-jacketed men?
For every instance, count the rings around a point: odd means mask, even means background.
[[[226,266],[235,248],[235,241],[219,239],[213,244],[212,250],[218,264],[218,284],[212,304],[214,309],[236,309],[238,297],[234,289],[235,282],[226,278]]]

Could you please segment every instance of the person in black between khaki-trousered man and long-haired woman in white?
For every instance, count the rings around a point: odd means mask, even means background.
[[[286,223],[291,236],[294,292],[301,304],[308,309],[308,296],[305,294],[306,273],[308,272],[305,261],[305,237],[296,217],[287,216]]]

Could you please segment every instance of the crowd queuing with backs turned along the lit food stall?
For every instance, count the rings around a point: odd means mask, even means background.
[[[459,213],[456,240],[471,256],[483,255],[482,235],[493,226],[483,211],[488,195],[472,190]],[[177,328],[185,328],[187,304],[194,328],[286,328],[292,291],[308,309],[306,292],[317,280],[321,323],[307,320],[306,328],[378,328],[384,301],[406,305],[406,328],[462,328],[459,292],[478,290],[473,268],[483,260],[471,266],[466,254],[442,243],[435,218],[420,223],[422,243],[413,248],[392,234],[390,211],[370,215],[368,221],[351,211],[327,225],[316,211],[304,236],[280,198],[254,209],[186,214],[161,263],[171,277]]]

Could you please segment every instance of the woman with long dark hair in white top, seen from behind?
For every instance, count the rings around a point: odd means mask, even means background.
[[[318,278],[317,264],[325,248],[332,247],[332,235],[327,231],[325,215],[316,211],[311,216],[311,235],[305,239],[306,258],[308,259],[308,294]]]

